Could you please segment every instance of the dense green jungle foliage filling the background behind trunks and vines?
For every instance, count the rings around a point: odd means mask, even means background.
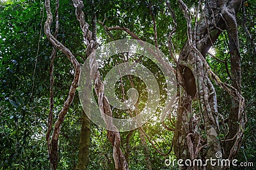
[[[53,2],[52,2],[53,3]],[[58,40],[67,46],[81,64],[84,62],[86,46],[83,43],[81,29],[76,19],[72,1],[60,1],[59,20],[60,30]],[[176,53],[179,53],[186,41],[186,20],[180,11],[177,2],[172,1],[172,8],[177,19],[177,31],[173,35],[173,45]],[[196,3],[186,1],[195,13]],[[239,41],[241,48],[242,91],[246,99],[246,113],[248,124],[244,132],[241,150],[237,155],[239,162],[253,162],[256,166],[256,15],[253,1],[246,1],[237,16],[239,21]],[[54,13],[54,6],[52,6]],[[173,62],[168,53],[168,34],[173,29],[173,20],[166,9],[164,1],[84,1],[83,11],[85,20],[92,25],[93,13],[97,20],[104,22],[108,27],[126,27],[139,36],[143,41],[154,45],[154,29],[152,15],[156,19],[157,38],[159,48]],[[246,18],[244,18],[246,17]],[[49,66],[51,63],[52,44],[44,34],[44,22],[46,14],[44,1],[31,0],[0,0],[0,169],[50,169],[49,157],[45,134],[47,132],[47,118],[49,115]],[[246,22],[245,22],[246,20]],[[52,31],[55,23],[52,24]],[[250,31],[250,36],[244,31],[245,27]],[[104,26],[97,24],[97,38],[99,43],[106,43],[115,39],[131,38],[123,31],[106,32]],[[227,35],[222,33],[214,45],[214,55],[218,59],[227,61]],[[139,58],[139,57],[138,57]],[[136,59],[136,58],[135,58]],[[106,67],[100,69],[100,73],[108,72],[111,67],[122,62],[120,56],[106,61]],[[225,63],[207,55],[207,61],[214,73],[218,74],[222,81],[230,83],[227,76]],[[156,73],[157,82],[161,89],[161,102],[164,103],[164,78],[156,65],[142,57],[141,64]],[[227,67],[230,66],[227,64]],[[74,76],[72,64],[61,52],[57,52],[54,60],[54,118],[63,106],[70,83]],[[139,78],[133,77],[134,87],[144,89],[145,85]],[[129,78],[122,80],[126,83],[124,91],[131,88]],[[119,81],[120,83],[121,81]],[[122,84],[116,85],[116,92],[122,90]],[[219,111],[224,116],[230,110],[230,97],[216,86]],[[147,100],[147,90],[141,90],[141,103],[143,108]],[[122,93],[118,96],[122,99]],[[127,96],[125,96],[127,97]],[[144,103],[143,103],[144,102]],[[59,141],[58,169],[74,169],[77,164],[79,148],[79,132],[81,131],[81,104],[78,94],[69,108],[65,122],[61,127]],[[114,110],[116,117],[127,116],[121,110]],[[175,120],[174,120],[175,121]],[[173,132],[165,131],[161,124],[151,120],[144,126],[145,131],[161,152],[168,152],[172,147]],[[101,127],[92,124],[90,138],[90,156],[88,169],[115,169],[113,160],[113,148],[106,138],[107,132]],[[129,151],[129,168],[146,169],[144,148],[140,143],[138,131],[121,132],[122,149]],[[127,138],[129,136],[129,138]],[[129,139],[127,141],[127,139]],[[167,167],[164,160],[168,156],[156,152],[148,141],[148,149],[152,169],[176,169]],[[171,152],[170,155],[174,156]]]

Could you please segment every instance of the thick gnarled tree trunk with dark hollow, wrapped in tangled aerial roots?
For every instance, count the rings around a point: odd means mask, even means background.
[[[184,11],[188,23],[188,40],[182,48],[177,61],[177,80],[180,87],[179,106],[177,110],[177,125],[173,146],[178,159],[215,159],[217,152],[225,158],[234,159],[239,149],[243,135],[244,99],[241,96],[241,68],[239,41],[237,34],[236,13],[241,1],[205,1],[204,12],[194,29],[191,26],[189,11],[183,1],[178,1]],[[221,31],[227,30],[230,49],[230,65],[232,86],[222,83],[220,78],[212,73],[205,56],[209,48],[218,39]],[[232,96],[232,107],[228,120],[230,129],[227,143],[222,143],[218,137],[219,117],[217,97],[211,80],[216,81],[221,88]],[[193,101],[198,101],[200,113],[192,110]],[[241,127],[237,122],[241,123]],[[205,137],[202,135],[205,133]],[[234,139],[232,139],[234,138]],[[223,144],[224,147],[223,147]],[[189,167],[181,169],[225,169],[227,167],[209,166]]]

